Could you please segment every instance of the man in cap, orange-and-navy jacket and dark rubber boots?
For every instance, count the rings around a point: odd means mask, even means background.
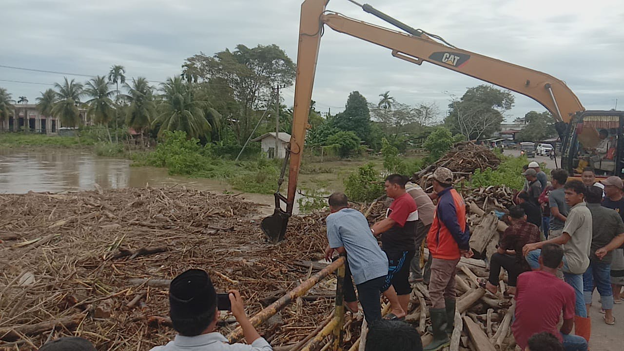
[[[433,341],[425,351],[437,351],[450,344],[447,334],[453,330],[456,292],[455,272],[462,255],[472,257],[468,241],[470,233],[466,224],[466,203],[453,189],[450,169],[438,167],[433,173],[433,190],[438,200],[433,223],[427,235],[431,253],[431,327]]]

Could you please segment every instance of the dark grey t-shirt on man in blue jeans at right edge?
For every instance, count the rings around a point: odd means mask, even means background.
[[[613,238],[624,233],[624,222],[622,217],[615,210],[602,207],[600,204],[587,204],[587,208],[592,212],[592,249],[590,260],[610,264],[613,252],[608,252],[602,260],[596,257],[596,250],[607,246]]]

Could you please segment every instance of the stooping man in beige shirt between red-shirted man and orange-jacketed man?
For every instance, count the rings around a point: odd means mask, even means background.
[[[422,243],[431,228],[431,223],[433,222],[433,212],[436,210],[436,205],[433,204],[431,197],[429,197],[425,190],[422,190],[418,184],[407,182],[407,184],[405,184],[405,190],[407,191],[407,194],[411,195],[414,199],[414,202],[416,202],[416,208],[418,209],[418,220],[416,221],[416,254],[412,259],[410,267],[411,274],[409,277],[410,283],[416,283],[422,282]]]

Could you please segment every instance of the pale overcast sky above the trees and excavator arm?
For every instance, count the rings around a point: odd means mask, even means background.
[[[301,0],[2,0],[0,65],[163,81],[185,58],[236,44],[277,44],[296,62]],[[567,82],[587,109],[624,109],[624,7],[617,0],[370,0],[380,11],[444,37],[457,47],[552,74]],[[328,9],[389,27],[346,0]],[[0,87],[34,102],[43,84],[63,76],[0,67]],[[87,77],[76,77],[85,81]],[[390,91],[407,104],[461,96],[481,84],[441,67],[391,56],[388,49],[326,28],[313,99],[342,111],[349,92],[369,102]],[[294,86],[283,99],[293,104]],[[544,107],[516,94],[508,119]],[[442,118],[443,116],[440,116]]]

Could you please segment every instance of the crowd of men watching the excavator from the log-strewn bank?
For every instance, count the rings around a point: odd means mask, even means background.
[[[585,169],[582,181],[568,181],[565,170],[555,169],[548,182],[537,162],[527,165],[522,175],[525,186],[514,199],[517,205],[510,207],[504,218],[509,227],[490,257],[489,279],[477,284],[496,294],[500,270],[507,271],[509,288],[503,293],[514,295],[512,332],[522,350],[585,351],[591,335],[588,310],[593,290],[600,294],[606,324],[615,324],[613,304],[621,304],[622,179],[608,177],[596,182],[593,170]],[[431,181],[433,192],[427,194],[407,177],[389,175],[384,187],[393,201],[385,218],[372,226],[361,212],[349,208],[346,195],[336,192],[329,196],[331,214],[326,219],[324,254],[328,260],[335,252],[346,255],[344,302],[353,313],[359,305],[363,309],[369,325],[367,351],[436,351],[450,344],[457,264],[473,252],[466,204],[452,186],[452,172],[438,167]],[[423,264],[425,240],[429,257]],[[424,347],[416,329],[403,322],[412,284],[419,282],[428,285],[431,297],[429,332],[433,340]],[[386,316],[381,314],[380,294],[391,305]],[[230,290],[227,297],[227,310],[236,318],[247,344],[229,344],[217,332],[220,305],[215,287],[207,272],[190,269],[170,284],[170,317],[178,334],[152,351],[272,350],[250,323],[238,291]],[[94,348],[84,339],[61,338],[41,350]]]

